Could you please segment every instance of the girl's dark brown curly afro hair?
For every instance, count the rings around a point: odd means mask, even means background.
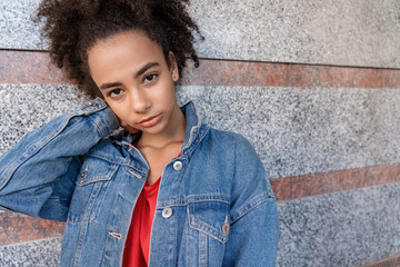
[[[90,97],[102,97],[93,82],[87,51],[98,40],[127,30],[141,30],[156,41],[169,63],[174,53],[180,77],[186,59],[199,59],[194,34],[202,39],[187,11],[189,0],[42,0],[36,17],[44,19],[42,34],[50,40],[50,57]]]

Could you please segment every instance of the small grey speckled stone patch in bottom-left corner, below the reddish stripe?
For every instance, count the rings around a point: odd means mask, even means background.
[[[0,267],[57,267],[60,251],[60,238],[0,247]]]

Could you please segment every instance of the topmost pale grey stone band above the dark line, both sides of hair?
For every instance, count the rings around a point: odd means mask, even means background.
[[[0,1],[0,48],[41,48],[39,0]],[[192,0],[200,57],[399,68],[398,0]]]

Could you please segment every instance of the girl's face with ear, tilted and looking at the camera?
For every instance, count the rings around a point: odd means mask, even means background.
[[[122,127],[159,135],[180,112],[174,81],[178,67],[170,52],[167,63],[161,47],[142,31],[124,31],[98,41],[88,50],[89,69],[104,101]]]

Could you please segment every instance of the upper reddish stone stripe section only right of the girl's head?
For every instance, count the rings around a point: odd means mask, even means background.
[[[186,83],[297,88],[400,88],[400,69],[202,60]]]

